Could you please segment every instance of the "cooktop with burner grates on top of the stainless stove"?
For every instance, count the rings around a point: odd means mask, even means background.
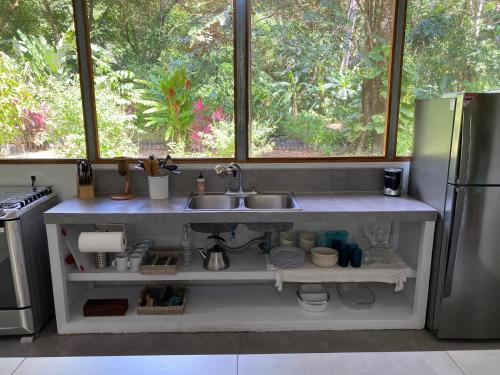
[[[0,187],[0,220],[19,218],[24,212],[55,197],[50,186]]]

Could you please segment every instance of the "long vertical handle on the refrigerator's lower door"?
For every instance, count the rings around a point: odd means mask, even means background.
[[[446,262],[446,273],[443,288],[443,297],[451,295],[453,284],[453,274],[455,271],[455,261],[457,254],[462,247],[462,235],[464,230],[464,218],[467,211],[467,189],[456,188],[456,198],[454,207],[453,224],[451,227],[450,242],[448,245],[448,258]]]

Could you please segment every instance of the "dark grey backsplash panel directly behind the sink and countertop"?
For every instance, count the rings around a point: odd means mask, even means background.
[[[219,177],[212,168],[184,170],[181,174],[170,176],[170,192],[189,193],[195,189],[195,181],[202,172],[207,181],[207,191],[222,192],[226,184],[237,188],[238,179]],[[131,171],[131,191],[147,194],[145,175]],[[384,169],[381,168],[344,168],[344,169],[243,169],[243,188],[256,185],[259,192],[265,191],[381,191]],[[123,189],[124,179],[114,170],[96,170],[96,194],[116,193]]]

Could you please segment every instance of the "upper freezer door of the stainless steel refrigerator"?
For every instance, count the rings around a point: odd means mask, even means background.
[[[448,181],[500,185],[500,93],[461,94],[456,114]]]

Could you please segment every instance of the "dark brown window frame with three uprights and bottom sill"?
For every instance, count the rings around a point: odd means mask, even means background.
[[[101,158],[95,104],[93,61],[88,19],[88,0],[72,0],[73,21],[80,71],[80,89],[86,138],[87,158],[96,164],[110,164],[113,159]],[[178,163],[213,164],[240,163],[335,163],[335,162],[390,162],[409,160],[396,155],[399,94],[403,63],[404,32],[407,0],[395,0],[393,6],[392,44],[389,62],[386,124],[383,155],[336,156],[311,158],[256,158],[250,157],[251,131],[251,3],[252,0],[233,1],[233,62],[234,62],[234,126],[235,156],[233,158],[176,158]],[[72,164],[77,159],[0,159],[0,164]],[[135,162],[136,159],[130,159]]]

